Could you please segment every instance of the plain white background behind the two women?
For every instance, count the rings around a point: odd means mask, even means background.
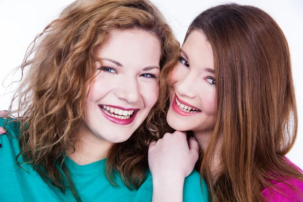
[[[27,46],[43,28],[54,20],[72,0],[0,0],[0,109],[8,109],[12,97],[8,84],[13,77],[4,78],[21,64]],[[201,11],[228,1],[214,0],[154,0],[182,43],[189,23]],[[303,168],[303,1],[302,0],[238,0],[239,4],[254,5],[269,13],[280,25],[289,43],[298,109],[298,136],[287,157]],[[14,80],[18,79],[18,74]],[[270,81],[268,81],[270,82]],[[2,85],[3,83],[3,85]],[[9,93],[9,94],[5,94]],[[3,95],[5,94],[5,95]]]

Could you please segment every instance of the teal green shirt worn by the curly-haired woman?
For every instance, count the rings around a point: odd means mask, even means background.
[[[8,120],[0,119],[0,126]],[[29,164],[23,164],[22,169],[16,163],[20,153],[18,145],[19,128],[10,122],[5,129],[8,133],[0,135],[0,201],[75,201],[71,190],[63,194],[61,190],[45,183],[39,174]],[[10,135],[8,135],[10,134]],[[146,181],[138,190],[128,189],[116,177],[117,186],[113,186],[106,177],[106,160],[100,160],[87,165],[77,165],[66,158],[66,165],[76,190],[83,201],[151,201],[153,195],[153,180],[147,174]],[[205,181],[201,192],[199,174],[193,171],[184,181],[183,201],[209,201]]]

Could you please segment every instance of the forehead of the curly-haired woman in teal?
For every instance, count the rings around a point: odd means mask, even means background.
[[[112,30],[109,40],[99,49],[99,58],[110,58],[123,65],[159,65],[160,40],[154,34],[139,29]]]

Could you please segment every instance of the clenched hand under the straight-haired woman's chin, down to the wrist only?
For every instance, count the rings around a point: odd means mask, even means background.
[[[157,142],[151,142],[148,149],[148,164],[154,176],[177,175],[188,176],[198,160],[199,146],[197,141],[189,138],[187,143],[186,133],[176,131],[166,133]]]

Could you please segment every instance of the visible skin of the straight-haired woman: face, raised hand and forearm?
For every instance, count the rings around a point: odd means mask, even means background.
[[[153,174],[153,200],[172,200],[171,196],[182,193],[184,177],[191,173],[198,159],[198,147],[207,147],[216,118],[215,74],[212,48],[203,33],[193,31],[180,52],[179,63],[170,78],[170,107],[167,114],[169,125],[179,131],[166,133],[152,142],[148,151],[148,162]],[[183,103],[199,110],[183,113],[175,110],[176,95]],[[177,108],[179,108],[177,106]],[[195,138],[180,131],[191,130]],[[186,163],[184,163],[186,162]],[[215,158],[214,168],[219,165]],[[161,187],[161,189],[159,188]],[[169,197],[170,196],[170,197]],[[182,198],[176,196],[176,199]],[[182,201],[182,200],[180,200]]]

